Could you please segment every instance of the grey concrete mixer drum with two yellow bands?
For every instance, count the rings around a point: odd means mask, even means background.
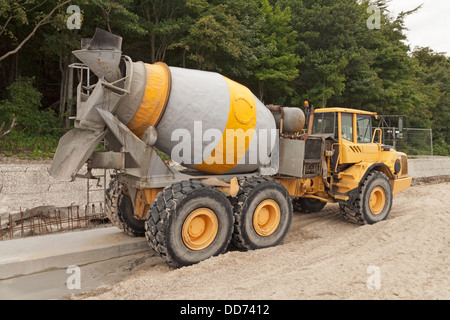
[[[275,120],[248,88],[164,63],[138,62],[134,70],[132,92],[115,114],[136,136],[155,127],[157,149],[205,173],[253,172],[268,161]]]

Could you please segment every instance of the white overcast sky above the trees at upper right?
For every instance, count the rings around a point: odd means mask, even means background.
[[[422,9],[405,20],[411,50],[415,46],[430,47],[450,56],[450,0],[391,0],[389,9],[396,15],[422,3]]]

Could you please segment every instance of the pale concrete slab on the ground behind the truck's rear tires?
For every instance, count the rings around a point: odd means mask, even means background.
[[[116,227],[0,242],[0,280],[152,251]]]

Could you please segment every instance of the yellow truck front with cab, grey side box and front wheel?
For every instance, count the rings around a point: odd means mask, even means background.
[[[386,219],[393,196],[411,185],[406,154],[382,143],[382,130],[373,128],[374,112],[309,111],[307,132],[280,138],[278,180],[290,190],[294,208],[313,213],[337,202],[352,222]]]

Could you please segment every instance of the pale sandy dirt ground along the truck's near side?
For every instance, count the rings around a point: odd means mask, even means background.
[[[450,299],[449,193],[448,182],[412,187],[376,225],[344,221],[337,205],[295,213],[277,247],[181,269],[149,254],[124,281],[72,298]]]

